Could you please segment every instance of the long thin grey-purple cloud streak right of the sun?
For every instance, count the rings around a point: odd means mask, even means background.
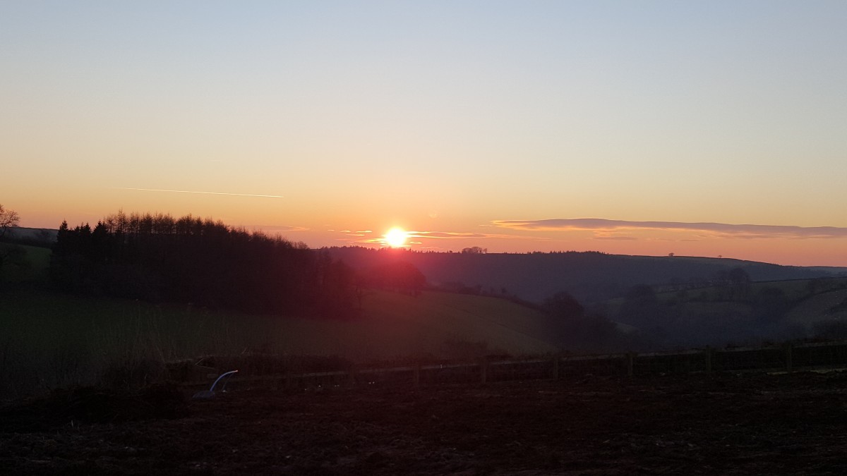
[[[668,221],[626,221],[610,219],[495,220],[495,226],[510,230],[677,230],[704,233],[722,238],[845,238],[847,228],[837,226],[790,226],[777,224],[685,223]],[[606,238],[607,239],[607,238]]]

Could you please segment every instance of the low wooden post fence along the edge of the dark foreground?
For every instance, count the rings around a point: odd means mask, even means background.
[[[796,372],[847,368],[847,341],[810,342],[780,346],[696,349],[676,352],[618,353],[595,356],[489,360],[420,364],[391,368],[350,368],[302,374],[245,375],[231,384],[304,389],[340,385],[422,385],[506,382],[534,379],[574,379],[594,376],[635,378],[659,374],[713,372]],[[203,376],[183,385],[205,385],[217,375],[202,368]],[[226,369],[219,369],[224,371]]]

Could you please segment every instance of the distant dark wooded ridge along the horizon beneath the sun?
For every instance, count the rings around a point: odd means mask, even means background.
[[[469,254],[363,247],[329,248],[329,252],[357,269],[403,260],[420,269],[431,285],[479,286],[477,289],[485,294],[510,294],[531,302],[541,302],[559,291],[570,292],[581,302],[602,302],[623,296],[638,284],[708,285],[719,274],[737,267],[743,268],[754,281],[847,275],[847,268],[804,268],[730,258],[646,257],[600,252]]]

